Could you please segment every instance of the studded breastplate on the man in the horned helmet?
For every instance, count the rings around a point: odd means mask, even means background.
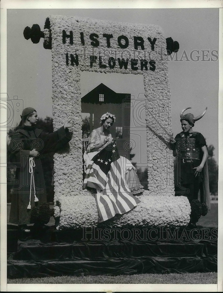
[[[183,134],[184,136],[184,134]],[[200,148],[196,146],[196,139],[193,138],[183,138],[181,135],[182,147],[179,149],[181,154],[181,159],[197,159],[200,160]]]

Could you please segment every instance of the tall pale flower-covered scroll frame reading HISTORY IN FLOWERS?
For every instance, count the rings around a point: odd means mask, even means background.
[[[69,149],[54,156],[58,229],[97,224],[95,198],[83,190],[81,71],[143,75],[149,190],[118,225],[188,224],[190,205],[186,197],[174,197],[173,159],[166,143],[172,128],[167,43],[162,29],[155,25],[49,16],[41,34],[44,48],[52,50],[54,129],[67,120],[74,125]]]

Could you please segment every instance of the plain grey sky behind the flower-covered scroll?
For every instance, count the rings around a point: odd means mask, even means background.
[[[171,91],[171,117],[174,136],[181,131],[179,114],[191,107],[195,116],[208,108],[205,116],[196,122],[194,131],[201,132],[207,145],[215,147],[218,160],[218,39],[219,10],[217,8],[174,9],[8,9],[7,10],[7,93],[10,99],[18,96],[23,107],[36,108],[39,117],[52,117],[52,56],[51,50],[25,40],[26,26],[39,24],[41,30],[49,15],[69,15],[95,19],[159,25],[165,37],[179,42],[179,52],[168,61]],[[190,54],[194,51],[192,56]],[[207,51],[205,51],[207,50]],[[197,57],[198,56],[198,57]],[[213,61],[205,61],[211,57]],[[198,61],[192,60],[199,59]],[[216,61],[215,61],[216,60]],[[89,78],[89,74],[91,77]],[[138,96],[144,92],[143,77],[131,74],[101,77],[97,73],[84,73],[81,79],[81,96],[103,82],[119,93],[130,92]],[[124,82],[125,81],[125,82]],[[15,104],[15,101],[13,101]],[[19,109],[17,109],[19,110]],[[142,114],[143,116],[144,114]],[[142,117],[143,118],[143,117]],[[13,126],[20,121],[15,112]],[[131,125],[133,125],[133,119]],[[145,134],[145,133],[144,133]],[[143,137],[145,135],[142,134]],[[134,151],[133,151],[134,153]],[[146,147],[140,152],[145,157]],[[138,152],[133,158],[140,161]]]

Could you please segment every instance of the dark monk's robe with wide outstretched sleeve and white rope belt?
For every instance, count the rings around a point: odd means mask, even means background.
[[[8,149],[9,159],[16,165],[15,184],[12,191],[11,210],[9,222],[13,224],[30,224],[30,209],[27,209],[30,201],[30,151],[36,149],[41,154],[55,152],[59,146],[71,140],[68,129],[64,126],[53,133],[46,133],[32,126],[24,126],[18,129],[11,139]],[[47,202],[46,187],[40,156],[34,157],[33,175],[35,182],[35,194],[38,202],[34,202],[34,186],[31,187],[31,208]]]

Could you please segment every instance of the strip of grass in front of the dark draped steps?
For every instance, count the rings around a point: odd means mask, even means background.
[[[8,279],[8,284],[217,284],[217,272]]]

